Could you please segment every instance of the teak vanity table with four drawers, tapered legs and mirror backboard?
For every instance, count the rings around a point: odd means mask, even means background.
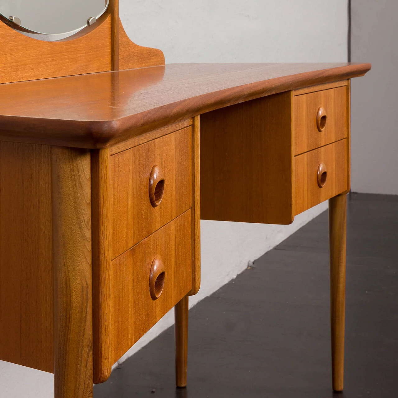
[[[200,219],[289,224],[329,199],[342,390],[349,79],[370,64],[165,66],[116,0],[91,22],[61,41],[0,22],[0,359],[91,397],[176,306],[185,386]]]

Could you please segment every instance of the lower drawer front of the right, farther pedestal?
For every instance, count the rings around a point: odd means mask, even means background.
[[[296,215],[347,191],[347,152],[343,139],[295,157]]]

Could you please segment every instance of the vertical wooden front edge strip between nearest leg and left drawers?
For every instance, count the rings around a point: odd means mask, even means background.
[[[111,374],[111,199],[109,149],[91,151],[94,383]]]

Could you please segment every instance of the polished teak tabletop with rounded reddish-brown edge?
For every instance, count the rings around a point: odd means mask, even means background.
[[[370,64],[169,64],[0,84],[0,140],[103,148],[224,106],[363,76]]]

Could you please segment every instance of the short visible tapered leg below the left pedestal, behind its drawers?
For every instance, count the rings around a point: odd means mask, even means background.
[[[187,385],[188,361],[188,296],[183,297],[174,307],[176,331],[176,386]]]

